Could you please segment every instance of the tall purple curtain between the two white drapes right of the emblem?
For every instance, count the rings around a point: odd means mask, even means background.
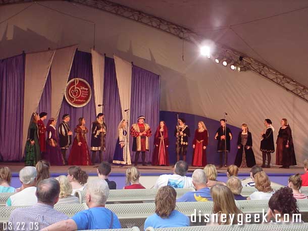
[[[115,60],[105,57],[104,105],[107,124],[105,161],[112,161],[118,139],[118,124],[122,120]]]

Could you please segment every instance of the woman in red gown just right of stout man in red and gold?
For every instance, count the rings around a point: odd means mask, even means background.
[[[155,148],[152,156],[152,165],[169,166],[169,138],[168,129],[164,121],[160,122],[160,125],[156,130],[154,145]]]

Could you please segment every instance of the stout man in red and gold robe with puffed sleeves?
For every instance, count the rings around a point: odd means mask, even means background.
[[[144,123],[145,117],[140,115],[137,123],[133,124],[130,129],[130,135],[133,137],[132,151],[135,154],[135,166],[138,165],[138,158],[141,152],[142,165],[145,166],[145,151],[149,150],[148,138],[152,135],[151,129],[148,124]]]

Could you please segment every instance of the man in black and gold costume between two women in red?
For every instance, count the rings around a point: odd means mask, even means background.
[[[184,119],[179,119],[179,125],[175,127],[174,136],[177,138],[176,141],[176,153],[177,161],[180,160],[180,156],[183,156],[183,160],[186,161],[188,137],[190,137],[190,130],[187,125],[185,125]]]

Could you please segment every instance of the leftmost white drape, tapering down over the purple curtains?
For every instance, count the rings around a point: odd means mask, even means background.
[[[54,55],[55,50],[26,54],[23,147],[26,144],[31,115],[33,112],[37,112],[36,109],[44,90]]]

